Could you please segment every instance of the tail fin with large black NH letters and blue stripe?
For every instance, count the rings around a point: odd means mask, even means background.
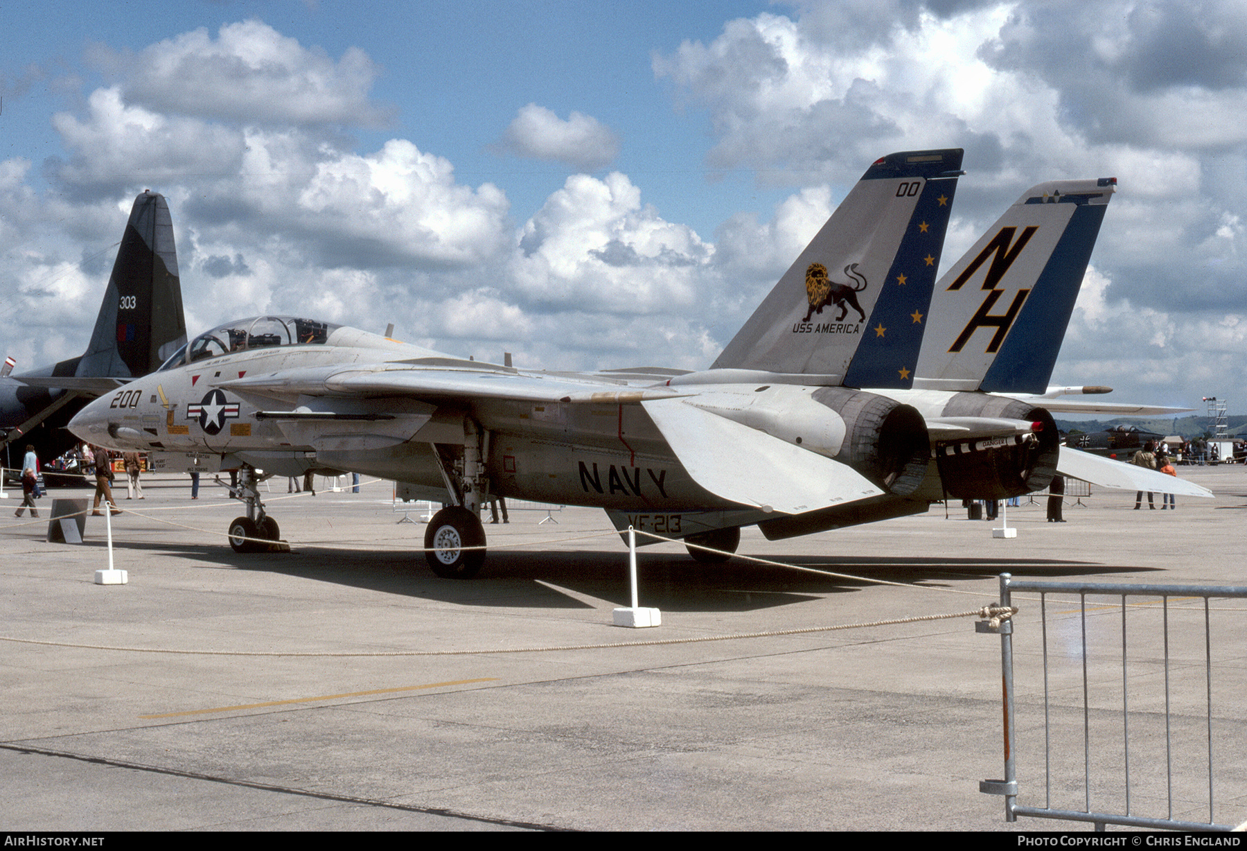
[[[935,286],[914,387],[1044,393],[1115,177],[1029,188]]]

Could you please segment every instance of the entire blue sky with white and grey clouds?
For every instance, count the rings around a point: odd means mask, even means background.
[[[1054,382],[1247,402],[1238,2],[24,4],[0,22],[0,347],[21,367],[82,351],[152,188],[192,333],[302,312],[522,366],[702,368],[873,158],[963,146],[945,265],[1034,183],[1120,180]]]

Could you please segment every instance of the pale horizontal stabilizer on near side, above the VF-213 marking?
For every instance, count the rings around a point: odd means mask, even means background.
[[[845,464],[680,399],[641,404],[693,480],[733,503],[799,514],[883,493]]]

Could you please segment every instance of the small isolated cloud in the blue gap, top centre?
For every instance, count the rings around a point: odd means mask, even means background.
[[[597,119],[572,111],[566,121],[536,104],[520,107],[500,147],[516,156],[561,162],[581,171],[609,166],[620,152],[619,136]]]

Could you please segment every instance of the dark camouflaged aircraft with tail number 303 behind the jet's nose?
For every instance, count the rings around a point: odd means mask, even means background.
[[[135,198],[86,352],[0,376],[0,447],[34,444],[51,459],[74,445],[65,430],[91,398],[146,376],[186,343],[173,222],[162,195]]]

